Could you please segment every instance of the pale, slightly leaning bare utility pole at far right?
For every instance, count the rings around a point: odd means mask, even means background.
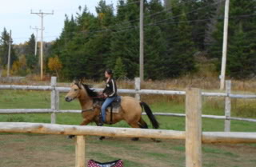
[[[226,49],[227,49],[227,38],[228,38],[228,26],[229,26],[229,10],[230,10],[230,0],[226,0],[225,3],[225,18],[224,18],[224,34],[223,34],[223,47],[222,47],[222,72],[221,72],[221,85],[220,89],[224,89],[225,85],[225,75],[226,75]]]

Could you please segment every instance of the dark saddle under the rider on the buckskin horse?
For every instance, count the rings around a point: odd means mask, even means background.
[[[94,107],[101,108],[103,102],[106,100],[104,97],[94,99]],[[106,108],[106,112],[118,113],[121,106],[121,97],[117,96],[114,101]]]

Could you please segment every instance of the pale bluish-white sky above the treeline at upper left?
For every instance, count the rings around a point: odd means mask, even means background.
[[[99,0],[0,0],[0,33],[3,28],[9,32],[12,30],[12,38],[15,44],[28,41],[35,30],[30,30],[30,26],[41,27],[41,18],[30,11],[50,13],[54,10],[54,15],[46,15],[44,18],[44,41],[50,42],[58,38],[64,26],[65,14],[70,16],[78,12],[78,6],[82,9],[86,5],[91,13],[95,13],[95,6]],[[107,4],[117,0],[106,0]],[[41,34],[38,34],[38,38]]]

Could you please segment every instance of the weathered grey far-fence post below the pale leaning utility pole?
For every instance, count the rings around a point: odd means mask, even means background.
[[[231,117],[231,99],[230,99],[230,93],[231,93],[231,81],[226,81],[226,93],[227,96],[225,97],[225,125],[224,125],[224,131],[230,132],[230,117]]]

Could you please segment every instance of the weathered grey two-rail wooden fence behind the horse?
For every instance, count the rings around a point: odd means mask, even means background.
[[[156,90],[156,89],[140,89],[140,80],[135,78],[134,82],[135,89],[118,89],[118,93],[132,93],[135,94],[137,99],[140,98],[140,94],[162,94],[162,95],[186,95],[185,91],[174,91],[174,90]],[[56,113],[81,113],[80,110],[60,110],[59,109],[59,93],[68,92],[70,88],[57,87],[57,78],[51,78],[50,86],[34,86],[34,85],[0,85],[0,89],[24,89],[24,90],[50,90],[51,91],[51,109],[0,109],[1,113],[51,113],[51,123],[56,123]],[[102,91],[102,89],[96,89]],[[256,122],[256,119],[242,118],[242,117],[231,117],[231,98],[256,98],[256,95],[247,94],[233,94],[231,93],[231,82],[226,82],[226,93],[207,93],[202,92],[202,96],[206,97],[225,97],[225,116],[216,115],[202,115],[206,118],[223,119],[225,120],[224,131],[230,131],[230,120],[238,121],[252,121]],[[143,113],[145,114],[145,113]],[[159,116],[174,116],[174,117],[185,117],[186,114],[182,113],[154,113]]]

